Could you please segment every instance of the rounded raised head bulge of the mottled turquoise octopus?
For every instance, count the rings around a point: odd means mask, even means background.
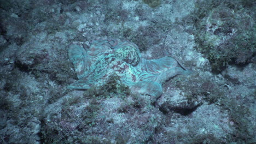
[[[130,63],[132,66],[136,66],[141,59],[141,54],[135,44],[122,45],[114,52],[115,57],[122,59],[123,61]]]

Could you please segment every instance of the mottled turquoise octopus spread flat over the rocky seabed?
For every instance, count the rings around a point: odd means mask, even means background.
[[[136,44],[116,39],[96,40],[86,49],[72,45],[68,57],[78,77],[68,86],[70,89],[86,90],[102,86],[114,74],[131,92],[160,97],[163,82],[191,73],[176,58],[146,59],[141,56]]]

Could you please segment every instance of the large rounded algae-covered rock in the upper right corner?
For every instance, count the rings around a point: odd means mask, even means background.
[[[196,48],[210,60],[214,71],[222,71],[228,63],[248,63],[255,56],[254,12],[242,4],[204,1],[196,5]]]

